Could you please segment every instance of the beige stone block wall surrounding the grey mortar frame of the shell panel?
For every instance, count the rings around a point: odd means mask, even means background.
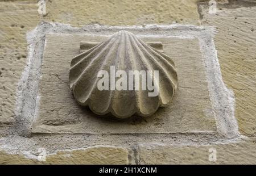
[[[222,78],[236,98],[241,143],[205,146],[138,146],[137,164],[256,164],[256,1],[218,1],[208,14],[208,1],[198,0],[48,0],[40,15],[36,0],[0,1],[0,125],[14,122],[18,81],[27,61],[26,33],[42,20],[108,26],[195,24],[216,27],[214,43]],[[3,136],[4,134],[1,134]],[[0,141],[1,143],[1,141]],[[209,162],[208,149],[218,151]],[[125,148],[95,146],[47,156],[47,162],[0,152],[0,164],[129,164]]]

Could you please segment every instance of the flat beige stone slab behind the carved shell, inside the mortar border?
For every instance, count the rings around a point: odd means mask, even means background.
[[[39,83],[33,132],[42,133],[179,133],[214,132],[216,123],[210,102],[204,60],[197,39],[147,37],[161,41],[164,53],[177,68],[178,89],[173,102],[146,119],[133,116],[117,121],[81,108],[69,89],[69,65],[79,53],[80,41],[101,41],[102,36],[47,35]],[[184,42],[186,45],[184,45]],[[56,45],[61,43],[61,47]],[[193,80],[193,81],[191,81]]]

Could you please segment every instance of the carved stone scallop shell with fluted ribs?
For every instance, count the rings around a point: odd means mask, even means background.
[[[149,97],[148,93],[152,91],[148,89],[99,90],[97,82],[101,78],[98,72],[106,70],[110,76],[110,66],[127,74],[129,70],[152,70],[152,73],[159,70],[158,84],[154,82],[158,95]],[[115,81],[118,79],[116,77]],[[119,31],[73,58],[69,82],[77,102],[89,106],[95,114],[110,112],[117,118],[128,118],[133,114],[150,116],[159,107],[167,106],[177,88],[177,73],[170,57],[150,47],[133,33]]]

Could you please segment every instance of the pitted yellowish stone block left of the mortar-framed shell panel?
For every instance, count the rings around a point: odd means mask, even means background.
[[[37,6],[0,2],[0,124],[14,121],[18,81],[27,62],[26,32],[39,22]]]

